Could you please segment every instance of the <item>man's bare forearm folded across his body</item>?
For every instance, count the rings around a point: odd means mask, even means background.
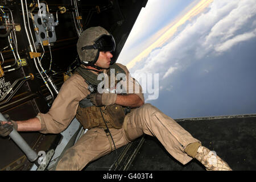
[[[144,103],[137,94],[127,94],[125,96],[118,94],[117,100],[115,100],[115,104],[128,106],[128,107],[139,107]]]

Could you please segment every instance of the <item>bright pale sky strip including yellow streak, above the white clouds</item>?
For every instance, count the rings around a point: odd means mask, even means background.
[[[174,14],[170,12],[176,11],[181,6],[182,3],[179,1],[161,1],[160,3],[148,1],[146,9],[142,9],[139,14],[118,61],[120,60],[120,63],[126,64],[130,69],[138,61],[147,57],[152,50],[161,47],[166,39],[175,34],[179,26],[199,14],[212,1],[194,0],[176,17],[172,17]],[[165,23],[160,24],[160,22]]]

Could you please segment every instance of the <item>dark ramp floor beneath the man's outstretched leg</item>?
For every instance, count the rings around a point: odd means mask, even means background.
[[[233,170],[256,170],[256,115],[188,118],[176,121],[205,147],[216,151]],[[186,165],[179,163],[155,137],[145,135],[130,145],[118,148],[118,155],[112,152],[90,163],[85,170],[205,170],[196,159]]]

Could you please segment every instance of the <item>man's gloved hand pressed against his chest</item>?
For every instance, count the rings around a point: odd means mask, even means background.
[[[113,105],[115,100],[117,100],[116,93],[91,93],[86,98],[88,98],[93,105],[103,106],[103,105]]]

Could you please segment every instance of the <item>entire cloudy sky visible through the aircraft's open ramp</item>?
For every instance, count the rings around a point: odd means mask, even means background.
[[[148,0],[117,63],[172,118],[255,114],[255,0]]]

